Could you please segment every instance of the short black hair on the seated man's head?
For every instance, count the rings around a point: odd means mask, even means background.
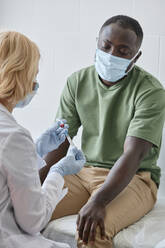
[[[135,19],[125,16],[125,15],[117,15],[109,18],[101,27],[101,30],[110,25],[111,23],[117,23],[119,26],[125,29],[130,29],[135,32],[137,36],[137,44],[140,47],[142,40],[143,40],[143,30],[140,26],[139,22]]]

